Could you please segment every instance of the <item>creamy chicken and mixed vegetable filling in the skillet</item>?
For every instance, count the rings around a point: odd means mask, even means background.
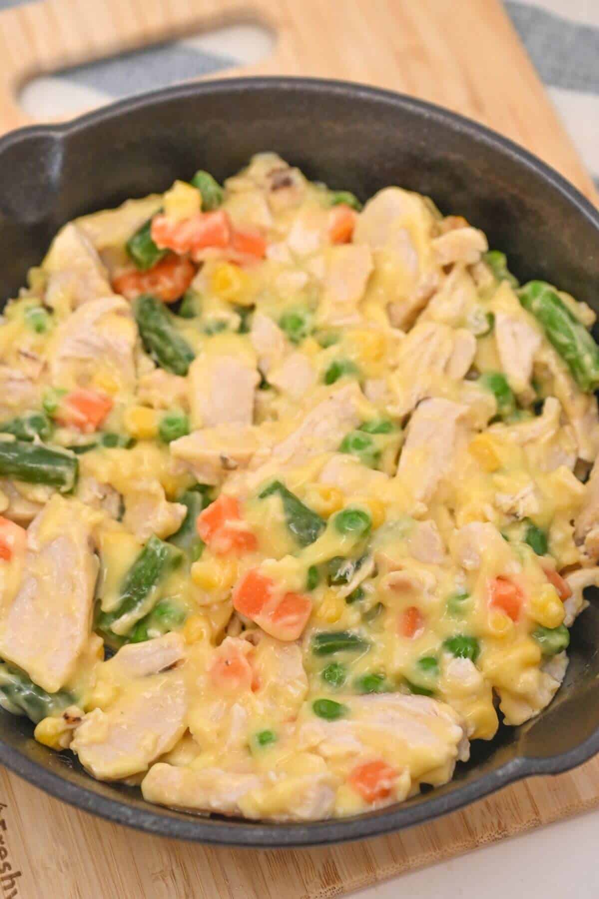
[[[2,705],[202,814],[445,783],[599,583],[594,321],[269,153],[66,225],[0,326]]]

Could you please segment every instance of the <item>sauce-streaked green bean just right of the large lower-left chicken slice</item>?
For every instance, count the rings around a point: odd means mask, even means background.
[[[101,612],[99,626],[103,630],[111,629],[123,616],[144,610],[153,594],[157,600],[160,583],[180,562],[181,550],[153,534],[125,575],[120,587],[119,605],[110,612]],[[140,614],[137,620],[142,617]],[[129,630],[135,623],[131,622]]]

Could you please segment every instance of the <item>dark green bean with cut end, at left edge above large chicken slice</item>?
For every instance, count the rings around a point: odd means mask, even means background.
[[[25,441],[0,441],[0,477],[46,484],[67,494],[75,487],[78,471],[79,462],[68,450]]]

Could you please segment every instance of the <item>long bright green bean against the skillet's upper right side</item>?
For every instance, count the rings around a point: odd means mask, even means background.
[[[544,281],[529,281],[518,297],[542,326],[548,341],[570,369],[578,387],[592,393],[599,387],[599,346],[557,290]]]

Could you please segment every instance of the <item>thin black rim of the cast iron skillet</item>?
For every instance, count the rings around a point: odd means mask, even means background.
[[[482,143],[493,147],[504,156],[510,157],[516,165],[531,170],[541,177],[554,190],[559,191],[592,227],[595,227],[599,237],[599,210],[595,209],[590,200],[587,200],[566,178],[524,147],[520,147],[509,138],[503,137],[498,132],[480,125],[474,120],[434,103],[418,100],[408,94],[395,93],[357,82],[292,76],[242,76],[173,85],[110,103],[102,106],[99,110],[84,113],[84,115],[64,123],[31,125],[13,130],[0,138],[0,159],[5,151],[15,146],[18,147],[20,144],[26,144],[31,138],[54,138],[60,145],[67,138],[79,134],[88,127],[101,125],[104,121],[112,120],[128,112],[184,100],[192,95],[260,92],[268,91],[269,88],[284,92],[327,93],[333,97],[340,94],[346,97],[351,95],[366,99],[366,101],[388,103],[411,111],[433,124],[462,132],[473,141],[473,144]],[[62,165],[62,157],[60,165]],[[57,182],[59,181],[60,172],[57,175]],[[84,812],[97,814],[114,823],[125,824],[154,835],[213,845],[269,849],[322,846],[399,831],[402,828],[431,821],[440,815],[454,812],[489,796],[500,788],[507,787],[508,784],[515,783],[517,780],[571,770],[590,759],[597,752],[599,752],[599,726],[583,743],[578,743],[577,746],[566,752],[542,759],[515,755],[497,770],[483,774],[471,783],[464,784],[462,787],[450,788],[448,792],[441,795],[436,795],[435,791],[432,792],[430,797],[419,805],[388,806],[380,812],[358,815],[348,819],[329,819],[305,824],[265,824],[245,823],[237,820],[234,823],[228,823],[220,819],[208,820],[180,813],[173,816],[172,811],[163,810],[161,806],[152,806],[149,803],[147,803],[147,809],[133,807],[123,799],[104,797],[91,788],[69,782],[60,774],[49,770],[38,761],[33,761],[0,739],[0,762],[6,768],[34,786],[43,789],[49,795]]]

